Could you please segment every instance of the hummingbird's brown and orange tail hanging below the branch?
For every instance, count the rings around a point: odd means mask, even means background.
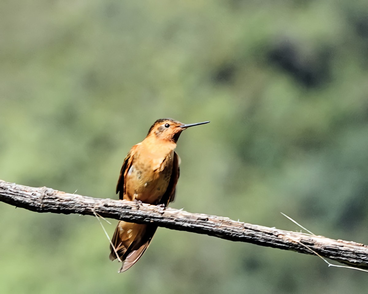
[[[110,260],[116,259],[116,254],[121,259],[123,265],[119,273],[125,272],[138,261],[148,248],[156,229],[157,226],[153,225],[139,225],[124,221],[118,223],[112,238],[116,252],[110,245]]]

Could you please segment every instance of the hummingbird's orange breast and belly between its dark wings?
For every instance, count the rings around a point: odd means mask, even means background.
[[[169,185],[173,159],[173,150],[168,154],[138,152],[125,178],[126,199],[157,204]]]

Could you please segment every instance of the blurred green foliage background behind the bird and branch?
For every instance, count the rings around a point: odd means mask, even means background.
[[[174,208],[368,243],[367,1],[1,1],[0,179],[117,198],[158,118]],[[364,293],[318,257],[159,228],[118,274],[89,216],[0,203],[2,293]],[[105,223],[110,234],[116,225]]]

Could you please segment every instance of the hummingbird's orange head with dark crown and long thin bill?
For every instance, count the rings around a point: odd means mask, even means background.
[[[209,121],[199,123],[189,123],[185,125],[184,123],[178,122],[171,118],[161,118],[155,121],[155,123],[153,123],[151,128],[149,128],[147,136],[154,135],[158,139],[174,141],[176,143],[183,130],[191,126],[203,125],[205,123],[209,123]]]

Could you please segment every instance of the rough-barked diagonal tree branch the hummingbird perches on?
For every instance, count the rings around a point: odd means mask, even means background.
[[[368,269],[368,246],[322,236],[232,221],[220,216],[192,214],[156,205],[69,194],[47,187],[34,188],[0,180],[0,201],[36,212],[94,215],[135,223],[155,223],[173,230],[206,234],[231,241],[292,250],[330,258]],[[304,245],[307,245],[309,250]]]

